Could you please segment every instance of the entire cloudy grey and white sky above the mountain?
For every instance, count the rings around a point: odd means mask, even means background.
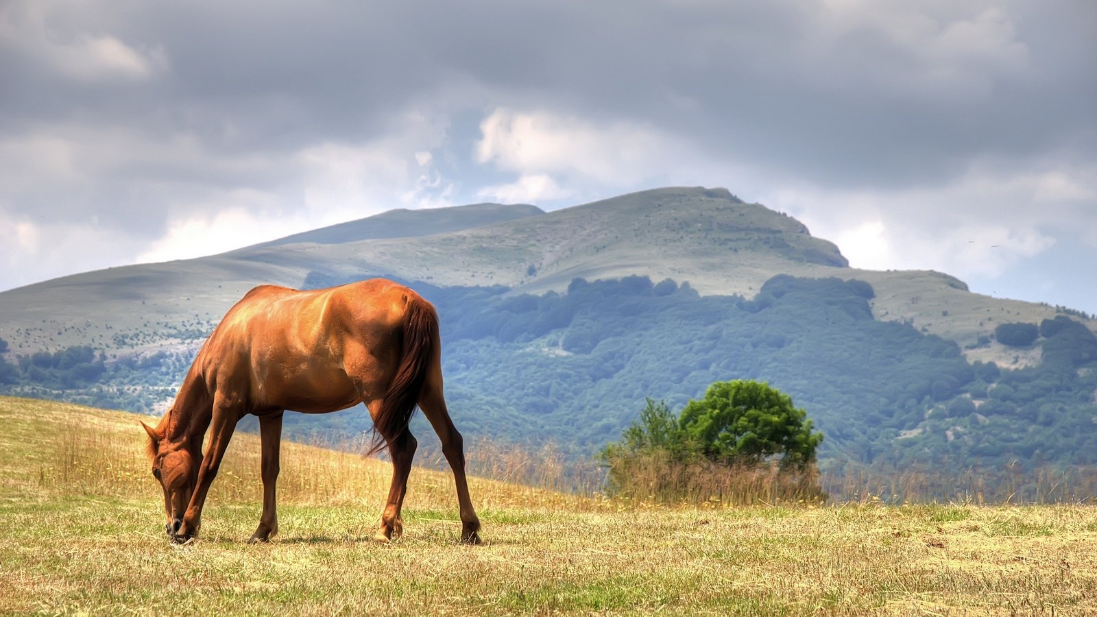
[[[0,289],[660,186],[1097,313],[1092,0],[3,0]]]

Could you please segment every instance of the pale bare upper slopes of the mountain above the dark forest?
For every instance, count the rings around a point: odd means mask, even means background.
[[[441,215],[444,222],[429,224]],[[350,229],[371,226],[377,237],[350,237]],[[437,233],[441,227],[449,231]],[[298,242],[309,237],[326,242]],[[522,204],[388,211],[219,255],[43,281],[0,292],[0,338],[10,343],[9,357],[70,345],[112,354],[194,346],[171,333],[212,329],[251,287],[301,287],[310,273],[501,284],[534,294],[563,292],[575,278],[641,274],[688,282],[704,295],[746,298],[777,273],[860,279],[875,290],[878,318],[908,322],[957,341],[969,359],[1004,366],[1039,358],[986,343],[996,325],[1056,314],[1047,305],[973,294],[940,272],[850,268],[837,246],[791,216],[727,189],[668,187],[547,213]],[[118,336],[152,324],[167,334],[138,337],[145,343],[136,346]],[[1092,319],[1086,324],[1097,329]]]

